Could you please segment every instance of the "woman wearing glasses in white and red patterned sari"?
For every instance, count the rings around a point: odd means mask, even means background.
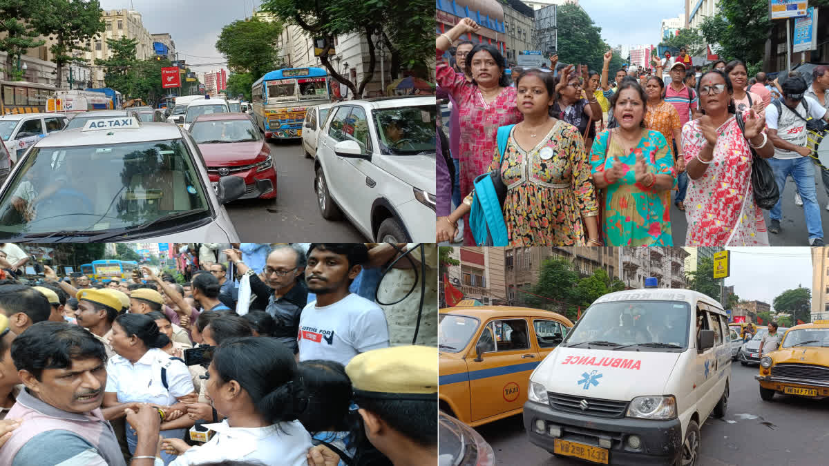
[[[734,118],[734,88],[724,71],[706,71],[697,89],[705,115],[682,127],[688,171],[687,246],[768,246],[763,211],[754,203],[751,163],[754,148],[774,155],[764,133],[765,119],[742,114],[743,134]],[[750,145],[750,148],[749,148]]]

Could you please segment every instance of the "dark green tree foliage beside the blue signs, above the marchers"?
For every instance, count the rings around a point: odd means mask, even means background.
[[[720,0],[718,7],[720,14],[706,17],[700,25],[705,41],[712,47],[718,45],[713,52],[723,60],[763,61],[772,27],[768,19],[768,0]],[[751,74],[752,70],[749,70]]]

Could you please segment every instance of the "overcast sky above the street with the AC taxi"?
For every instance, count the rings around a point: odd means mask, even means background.
[[[100,0],[104,10],[130,8],[141,13],[150,34],[169,32],[179,58],[196,71],[220,70],[225,64],[193,66],[224,61],[216,50],[221,28],[250,17],[260,0]]]

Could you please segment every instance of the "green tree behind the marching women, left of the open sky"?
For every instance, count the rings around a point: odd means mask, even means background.
[[[602,41],[602,28],[594,26],[593,20],[581,7],[574,3],[560,6],[558,28],[560,63],[581,63],[594,70],[602,69],[604,52],[608,51],[609,47]],[[612,65],[613,59],[611,70],[614,69]]]

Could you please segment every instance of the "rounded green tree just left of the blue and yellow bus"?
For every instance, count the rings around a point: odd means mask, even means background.
[[[216,50],[227,58],[230,70],[250,73],[253,80],[258,80],[277,68],[281,33],[282,22],[261,21],[256,17],[231,22],[222,27]],[[230,83],[228,85],[230,89]]]

